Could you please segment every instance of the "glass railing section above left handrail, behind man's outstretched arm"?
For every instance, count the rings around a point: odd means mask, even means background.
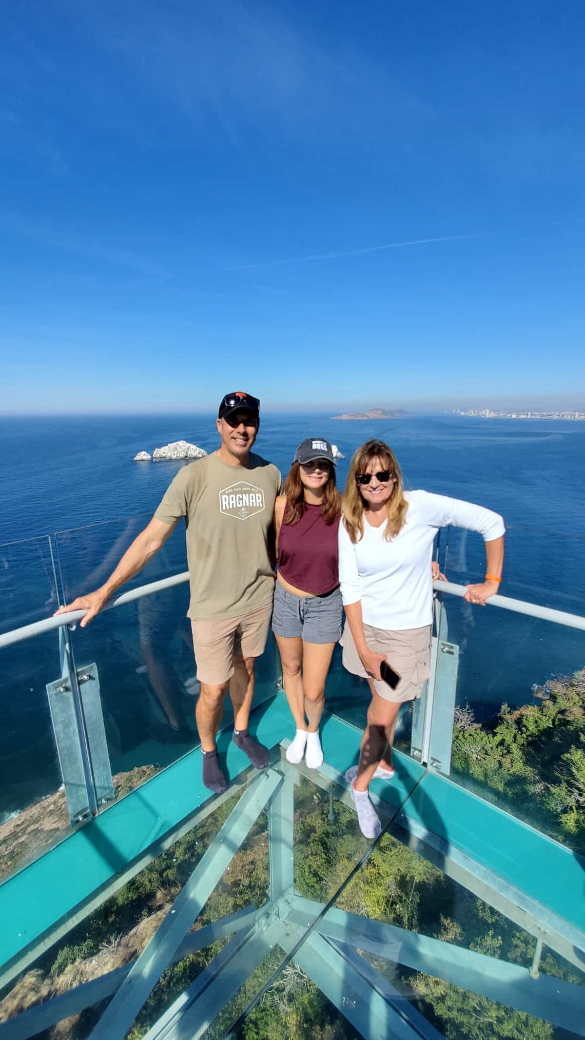
[[[150,519],[151,514],[143,513],[57,531],[54,537],[64,601],[69,603],[76,596],[99,589]],[[121,591],[127,592],[186,570],[185,527],[179,523],[161,549]]]

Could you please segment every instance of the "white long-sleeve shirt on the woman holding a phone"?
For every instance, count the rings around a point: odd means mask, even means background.
[[[504,521],[498,513],[458,498],[406,491],[406,521],[392,541],[385,523],[372,527],[364,514],[364,537],[355,545],[343,520],[339,525],[339,578],[344,605],[362,601],[362,618],[374,628],[401,630],[432,622],[432,543],[440,527],[452,524],[500,538]]]

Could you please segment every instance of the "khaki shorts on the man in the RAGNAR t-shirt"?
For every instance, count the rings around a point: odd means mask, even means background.
[[[191,621],[197,679],[220,686],[234,674],[234,657],[260,657],[264,653],[272,600],[237,618]]]

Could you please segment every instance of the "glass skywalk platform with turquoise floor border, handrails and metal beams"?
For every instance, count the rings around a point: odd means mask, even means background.
[[[337,655],[322,768],[286,761],[270,645],[250,720],[270,764],[249,768],[227,706],[210,796],[185,576],[73,630],[46,617],[71,591],[58,539],[0,554],[47,581],[0,618],[0,1040],[585,1035],[585,619],[436,583],[431,679],[372,784],[371,842],[343,779],[367,690]]]

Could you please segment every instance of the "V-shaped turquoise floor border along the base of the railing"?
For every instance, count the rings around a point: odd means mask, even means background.
[[[294,735],[284,694],[259,705],[250,731],[270,748]],[[227,755],[230,779],[249,765],[231,742],[218,739]],[[343,775],[357,761],[361,732],[325,713],[322,745],[325,762]],[[537,903],[585,930],[585,862],[547,835],[400,752],[394,753],[392,784],[374,781],[372,789],[407,818],[432,830]],[[162,770],[91,823],[64,838],[0,886],[0,964],[49,935],[68,915],[123,873],[210,798],[201,782],[201,752],[186,754]],[[576,892],[579,899],[576,899]]]

